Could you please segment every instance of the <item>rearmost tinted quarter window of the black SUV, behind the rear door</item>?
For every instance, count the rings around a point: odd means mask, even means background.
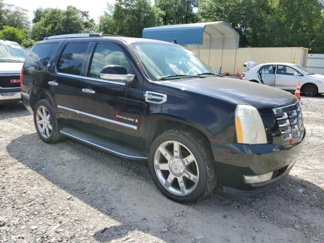
[[[36,44],[25,60],[24,68],[44,71],[59,43]]]

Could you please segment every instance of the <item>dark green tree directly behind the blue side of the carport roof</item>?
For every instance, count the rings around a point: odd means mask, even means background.
[[[187,24],[198,21],[193,9],[198,7],[197,0],[156,0],[155,6],[165,12],[164,25]]]

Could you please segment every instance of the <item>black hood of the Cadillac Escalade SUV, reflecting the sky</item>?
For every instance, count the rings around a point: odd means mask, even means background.
[[[252,105],[259,109],[260,113],[271,113],[272,108],[298,101],[287,91],[228,77],[178,79],[163,81],[161,84],[213,96],[235,104]]]

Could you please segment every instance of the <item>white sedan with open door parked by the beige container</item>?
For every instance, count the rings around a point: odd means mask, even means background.
[[[242,79],[293,92],[300,82],[301,93],[314,97],[324,93],[324,75],[293,63],[263,63],[241,74]]]

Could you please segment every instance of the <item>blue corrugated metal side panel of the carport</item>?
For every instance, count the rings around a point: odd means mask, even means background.
[[[201,45],[204,37],[203,24],[175,24],[145,28],[143,38],[158,39],[165,42],[173,42],[176,39],[182,45]]]

